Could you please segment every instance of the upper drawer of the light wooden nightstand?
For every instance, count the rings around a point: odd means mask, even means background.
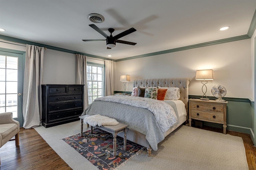
[[[222,104],[191,102],[190,109],[198,111],[223,113],[224,108]]]

